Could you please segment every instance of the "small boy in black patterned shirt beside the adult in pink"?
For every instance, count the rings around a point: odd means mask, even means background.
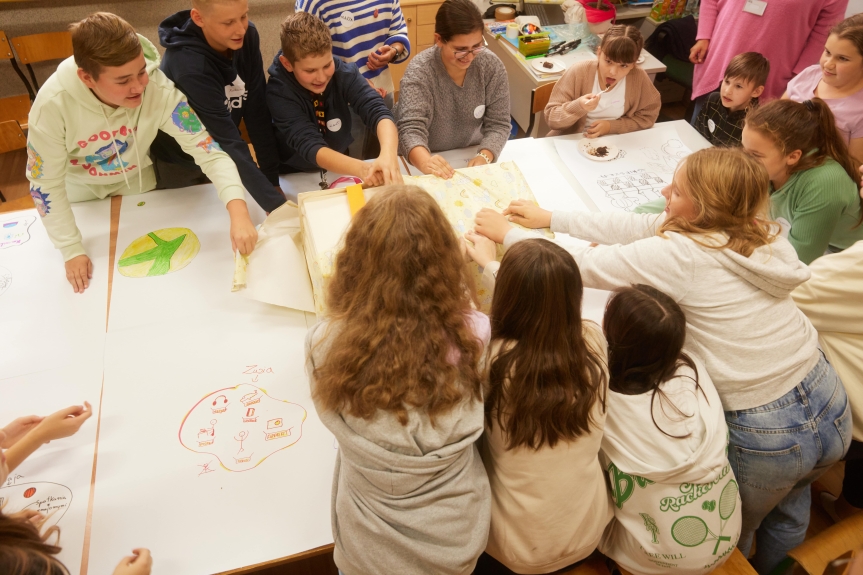
[[[712,92],[695,120],[695,129],[714,146],[739,146],[746,112],[758,105],[770,62],[758,52],[744,52],[725,68],[722,86]]]

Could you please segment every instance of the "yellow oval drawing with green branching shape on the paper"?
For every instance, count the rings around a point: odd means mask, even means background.
[[[200,249],[198,236],[189,228],[164,228],[130,243],[117,269],[130,278],[163,276],[189,265]]]

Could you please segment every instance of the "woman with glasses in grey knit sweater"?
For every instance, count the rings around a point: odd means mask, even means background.
[[[451,178],[436,152],[477,146],[468,166],[494,162],[510,134],[503,63],[485,49],[483,22],[471,0],[446,0],[435,16],[435,45],[416,55],[395,108],[399,153],[424,174]]]

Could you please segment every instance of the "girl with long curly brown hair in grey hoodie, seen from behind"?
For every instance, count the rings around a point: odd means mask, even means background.
[[[458,238],[414,186],[378,191],[336,256],[307,372],[338,440],[335,562],[345,575],[467,575],[485,548],[479,361],[488,318]]]

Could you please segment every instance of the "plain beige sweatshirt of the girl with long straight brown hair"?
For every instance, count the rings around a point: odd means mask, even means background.
[[[606,344],[599,326],[585,321],[584,336],[604,362]],[[599,461],[605,427],[600,402],[592,416],[589,434],[537,451],[507,451],[497,423],[491,428],[486,424],[480,443],[491,484],[486,553],[516,573],[551,573],[584,559],[614,516]]]

